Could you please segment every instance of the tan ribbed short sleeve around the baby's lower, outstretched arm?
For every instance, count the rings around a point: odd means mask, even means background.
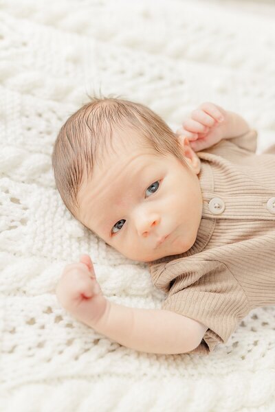
[[[219,261],[177,261],[166,265],[156,286],[168,290],[162,309],[195,319],[208,327],[195,350],[188,354],[209,354],[228,341],[241,319],[250,311],[248,299],[225,264]],[[179,266],[184,271],[179,273]],[[174,266],[174,267],[173,267]],[[174,276],[177,273],[176,277]],[[174,278],[173,278],[174,276]]]

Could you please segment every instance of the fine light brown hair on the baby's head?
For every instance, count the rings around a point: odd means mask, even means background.
[[[94,164],[111,146],[112,130],[125,125],[137,130],[144,148],[153,149],[157,156],[172,154],[188,167],[177,136],[150,108],[120,98],[91,98],[63,124],[52,152],[56,187],[76,219],[83,172],[92,175]]]

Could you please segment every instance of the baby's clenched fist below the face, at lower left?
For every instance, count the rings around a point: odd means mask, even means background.
[[[67,264],[56,287],[61,305],[76,319],[93,327],[107,308],[107,299],[96,280],[89,255]]]

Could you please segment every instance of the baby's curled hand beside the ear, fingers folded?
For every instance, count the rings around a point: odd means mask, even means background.
[[[190,117],[184,120],[176,131],[179,142],[187,137],[192,150],[199,152],[213,146],[223,138],[224,127],[228,122],[228,112],[217,104],[205,102]]]

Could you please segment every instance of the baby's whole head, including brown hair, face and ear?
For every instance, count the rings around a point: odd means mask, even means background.
[[[62,126],[52,165],[67,209],[126,258],[150,262],[194,244],[199,158],[146,106],[94,98]]]

